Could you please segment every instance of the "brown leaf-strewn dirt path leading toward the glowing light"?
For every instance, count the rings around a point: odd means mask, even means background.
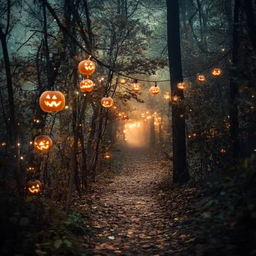
[[[183,255],[185,241],[173,237],[154,189],[168,166],[146,148],[126,148],[116,171],[121,174],[98,188],[92,207],[97,232],[91,237],[91,255]]]

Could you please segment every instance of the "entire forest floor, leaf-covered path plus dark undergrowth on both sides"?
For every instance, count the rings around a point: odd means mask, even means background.
[[[256,255],[255,162],[174,186],[161,152],[119,146],[69,218],[46,192],[0,196],[0,255]]]

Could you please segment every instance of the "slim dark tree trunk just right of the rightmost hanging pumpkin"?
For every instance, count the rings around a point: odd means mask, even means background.
[[[239,139],[238,139],[238,106],[237,106],[237,61],[238,61],[238,29],[239,29],[239,13],[240,13],[240,0],[235,1],[234,5],[234,28],[233,28],[233,51],[232,62],[234,67],[231,68],[231,82],[230,82],[230,124],[231,124],[231,141],[233,157],[237,159],[239,157]]]

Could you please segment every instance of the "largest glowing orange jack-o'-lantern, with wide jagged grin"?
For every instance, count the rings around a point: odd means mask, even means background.
[[[64,94],[60,91],[45,91],[40,96],[39,105],[44,112],[59,112],[65,106]]]

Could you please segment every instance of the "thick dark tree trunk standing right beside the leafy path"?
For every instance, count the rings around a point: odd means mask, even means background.
[[[177,84],[183,81],[181,54],[180,54],[180,12],[178,0],[166,0],[167,28],[168,28],[168,57],[171,77],[171,96],[180,98],[183,102],[182,90],[177,90]],[[186,167],[186,132],[185,118],[181,103],[172,106],[172,139],[174,183],[186,183],[189,180],[189,171]]]

